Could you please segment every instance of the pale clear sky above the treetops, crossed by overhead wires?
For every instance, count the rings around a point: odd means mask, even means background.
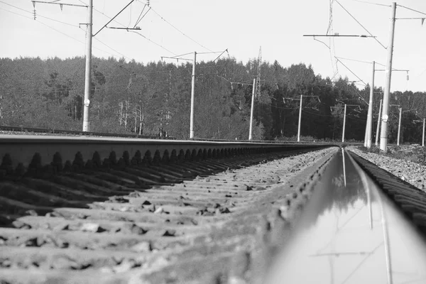
[[[88,1],[55,2],[87,5]],[[93,33],[130,1],[93,0]],[[141,12],[148,11],[146,4],[133,1],[108,27],[133,28]],[[207,61],[219,55],[209,52],[227,49],[229,56],[247,62],[258,58],[261,47],[262,60],[277,60],[283,67],[302,62],[322,77],[348,77],[362,89],[364,83],[371,84],[371,62],[386,64],[391,4],[391,0],[151,0],[151,10],[137,24],[140,31],[104,28],[93,39],[92,54],[147,63],[197,51],[205,53],[197,55],[197,61]],[[426,0],[397,4],[393,68],[409,70],[409,80],[407,72],[393,72],[391,91],[426,92],[426,21],[422,24],[420,19],[426,18]],[[36,3],[35,21],[33,11],[30,0],[0,0],[0,58],[84,56],[86,26],[79,23],[87,23],[87,8],[62,6],[61,11],[60,5]],[[303,36],[324,35],[327,30],[340,35],[371,33],[376,38]],[[376,71],[375,85],[384,83],[385,72]]]

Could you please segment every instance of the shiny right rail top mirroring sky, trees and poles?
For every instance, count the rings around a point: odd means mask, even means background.
[[[426,283],[424,239],[344,155],[322,175],[266,283]]]

